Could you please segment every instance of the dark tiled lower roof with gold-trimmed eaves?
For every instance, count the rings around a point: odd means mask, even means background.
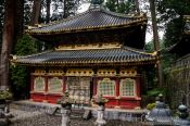
[[[107,65],[155,63],[156,54],[129,47],[114,49],[52,50],[26,56],[13,56],[12,63],[25,65]]]

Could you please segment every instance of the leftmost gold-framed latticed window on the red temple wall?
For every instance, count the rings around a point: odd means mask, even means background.
[[[34,91],[45,91],[45,77],[36,77],[34,80]]]

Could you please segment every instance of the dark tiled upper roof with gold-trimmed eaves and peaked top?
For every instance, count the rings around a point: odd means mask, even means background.
[[[147,23],[147,17],[141,15],[126,15],[106,11],[102,8],[92,8],[73,17],[50,24],[38,25],[26,30],[30,35],[48,35],[75,33],[84,30],[98,30],[104,28],[129,27]]]

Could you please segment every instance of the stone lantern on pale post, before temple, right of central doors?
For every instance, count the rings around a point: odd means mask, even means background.
[[[106,122],[103,119],[103,114],[104,114],[104,105],[107,101],[109,100],[103,98],[102,94],[100,94],[96,99],[93,99],[93,102],[99,105],[97,121],[96,121],[96,125],[98,125],[98,126],[103,126],[106,124]]]

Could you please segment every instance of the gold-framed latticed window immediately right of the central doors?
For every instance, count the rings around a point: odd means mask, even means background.
[[[99,80],[98,93],[103,96],[115,96],[115,81],[110,78]]]

